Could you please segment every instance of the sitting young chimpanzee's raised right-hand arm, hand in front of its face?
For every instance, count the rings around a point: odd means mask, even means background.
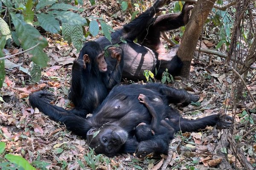
[[[124,59],[122,48],[110,47],[108,48],[108,51],[111,54],[111,57],[116,59],[116,65],[107,80],[107,88],[111,90],[115,85],[121,82]]]

